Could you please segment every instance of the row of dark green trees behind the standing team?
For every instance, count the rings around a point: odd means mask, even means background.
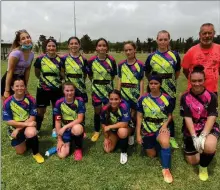
[[[50,36],[49,38],[53,38]],[[39,40],[34,45],[34,51],[39,52],[46,52],[46,40],[49,39],[46,38],[45,35],[40,35]],[[88,34],[84,35],[81,39],[81,48],[84,53],[94,53],[95,52],[95,43],[96,40],[92,40]],[[214,42],[217,44],[220,44],[220,35],[217,35],[214,38]],[[110,52],[122,52],[123,51],[123,45],[124,42],[116,42],[112,43],[108,41],[109,43],[109,51]],[[177,40],[170,40],[170,49],[176,50],[179,53],[185,53],[188,51],[189,48],[199,43],[199,39],[193,39],[193,37],[189,37],[187,39],[179,38]],[[136,46],[137,46],[137,52],[141,53],[151,53],[157,49],[157,43],[156,39],[153,38],[147,38],[144,42],[141,42],[139,38],[136,40]],[[68,43],[67,41],[64,42],[58,42],[58,51],[68,50]]]

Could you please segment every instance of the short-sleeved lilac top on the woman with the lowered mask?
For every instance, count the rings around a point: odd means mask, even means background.
[[[24,75],[25,69],[31,65],[31,62],[34,59],[34,53],[30,52],[28,60],[24,59],[24,54],[21,50],[14,50],[9,54],[9,57],[16,57],[18,62],[14,69],[14,74]],[[7,68],[8,71],[8,68]]]

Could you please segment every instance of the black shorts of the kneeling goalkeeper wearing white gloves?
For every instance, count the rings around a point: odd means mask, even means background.
[[[198,133],[198,135],[200,135],[201,131]],[[216,128],[213,128],[210,131],[210,134],[214,135],[217,139],[219,138],[219,130],[217,130]],[[191,136],[184,136],[183,137],[183,149],[184,149],[184,153],[185,155],[195,155],[197,154],[197,150],[195,149],[194,145],[193,145],[193,140]]]

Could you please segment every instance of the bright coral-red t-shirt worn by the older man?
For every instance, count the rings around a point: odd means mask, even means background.
[[[210,92],[218,92],[218,79],[220,68],[220,45],[213,43],[210,49],[202,49],[200,44],[191,47],[183,57],[183,69],[192,71],[195,65],[203,65],[205,68],[205,87]],[[188,80],[188,89],[191,84]]]

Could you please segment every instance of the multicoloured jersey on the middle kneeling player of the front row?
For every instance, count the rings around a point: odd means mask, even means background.
[[[131,120],[130,110],[125,101],[121,101],[116,112],[111,110],[110,104],[102,107],[101,123],[104,125],[112,125],[117,122],[129,122]]]

